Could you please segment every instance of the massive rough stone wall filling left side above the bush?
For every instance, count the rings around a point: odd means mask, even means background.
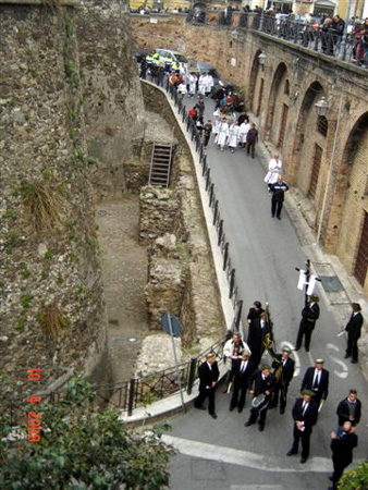
[[[122,191],[140,127],[128,17],[118,1],[0,1],[0,29],[2,372],[98,380],[107,319],[91,184]]]

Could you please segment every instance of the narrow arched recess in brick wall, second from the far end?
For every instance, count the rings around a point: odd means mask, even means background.
[[[275,111],[278,107],[278,102],[283,103],[280,101],[281,98],[285,98],[284,96],[284,84],[287,78],[287,68],[285,63],[280,63],[278,68],[274,71],[271,89],[270,89],[270,96],[268,101],[268,109],[267,109],[267,115],[266,115],[266,127],[265,127],[265,136],[266,139],[270,139],[274,145],[278,146],[278,138],[280,133],[280,121],[275,117]],[[278,114],[279,115],[279,114]],[[280,119],[280,118],[279,118]],[[273,123],[277,123],[273,127]]]

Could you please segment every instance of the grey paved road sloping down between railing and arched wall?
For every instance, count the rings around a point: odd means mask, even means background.
[[[193,101],[186,99],[189,107]],[[207,100],[206,120],[211,118]],[[255,299],[269,302],[278,347],[284,342],[294,345],[304,306],[304,294],[296,289],[297,272],[306,256],[295,234],[293,223],[283,210],[282,220],[271,218],[270,196],[263,183],[265,170],[259,149],[256,159],[244,150],[231,155],[209,144],[208,162],[220,203],[224,231],[230,242],[232,266],[236,269],[238,297],[244,299],[244,316]],[[335,411],[349,388],[358,390],[364,406],[368,406],[367,383],[357,365],[343,359],[344,340],[338,338],[329,306],[323,298],[321,316],[307,354],[302,348],[294,357],[298,366],[291,384],[284,415],[269,411],[265,432],[257,425],[244,427],[249,401],[243,414],[230,413],[230,395],[217,393],[213,420],[206,412],[191,408],[173,417],[173,444],[179,454],[171,464],[171,488],[174,490],[314,490],[328,489],[331,473],[330,432],[336,428]],[[346,318],[349,311],[346,311]],[[247,332],[246,332],[247,333]],[[291,408],[299,393],[303,373],[312,359],[323,357],[330,371],[330,394],[311,436],[310,458],[305,465],[299,457],[286,457],[291,448],[293,420]],[[367,411],[358,427],[359,446],[355,460],[367,456]]]

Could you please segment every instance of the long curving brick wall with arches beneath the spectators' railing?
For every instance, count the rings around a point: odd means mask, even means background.
[[[262,140],[280,152],[286,180],[304,196],[319,244],[367,292],[366,72],[252,29],[191,25],[183,16],[158,17],[157,24],[132,16],[132,27],[138,47],[185,50],[241,88]],[[315,103],[322,97],[329,111],[318,118]]]

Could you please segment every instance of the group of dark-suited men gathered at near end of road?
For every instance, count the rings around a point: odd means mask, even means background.
[[[300,348],[303,339],[306,352],[309,351],[311,333],[320,315],[318,302],[318,296],[312,295],[303,308],[293,351]],[[354,364],[358,359],[357,342],[364,320],[359,304],[353,303],[352,309],[345,327],[347,332],[345,358],[352,357]],[[244,425],[250,427],[258,422],[259,431],[263,432],[270,409],[279,407],[280,414],[285,413],[289,387],[295,372],[295,360],[292,358],[292,350],[287,346],[275,353],[273,324],[268,309],[265,310],[259,301],[256,301],[249,309],[247,322],[247,342],[242,339],[240,332],[233,332],[224,344],[223,359],[226,375],[222,392],[230,394],[229,411],[233,412],[236,408],[238,413],[243,412],[249,393],[252,396],[249,417]],[[271,362],[262,363],[267,356]],[[208,412],[214,419],[218,418],[214,394],[220,378],[216,357],[214,353],[208,354],[206,362],[199,366],[199,395],[195,401],[195,407],[205,411],[204,402],[208,399]],[[321,358],[316,359],[315,366],[308,367],[302,378],[300,396],[295,400],[292,408],[293,443],[286,453],[287,456],[296,455],[300,444],[300,464],[306,463],[309,457],[310,437],[328,399],[329,379],[329,371]],[[344,469],[352,463],[353,450],[358,443],[356,427],[361,416],[361,402],[354,388],[339,403],[336,415],[336,430],[330,436],[333,462],[330,480],[333,490],[336,490]]]

